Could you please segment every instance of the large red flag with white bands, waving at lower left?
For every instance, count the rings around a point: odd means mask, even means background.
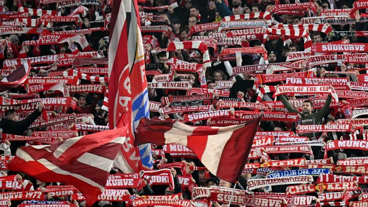
[[[20,147],[9,170],[44,182],[74,185],[91,206],[103,192],[127,126],[78,136],[53,145]]]

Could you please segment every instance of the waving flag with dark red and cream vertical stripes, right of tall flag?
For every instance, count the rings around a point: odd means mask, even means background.
[[[135,133],[134,144],[181,144],[191,149],[212,174],[234,183],[244,169],[260,119],[227,127],[191,127],[144,118]]]

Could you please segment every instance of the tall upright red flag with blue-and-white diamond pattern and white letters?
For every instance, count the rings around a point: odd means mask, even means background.
[[[110,21],[109,45],[109,126],[119,124],[123,111],[128,117],[128,133],[116,159],[125,173],[152,168],[150,146],[134,147],[134,130],[149,116],[147,80],[142,36],[136,0],[114,1]],[[141,154],[141,157],[140,157]]]

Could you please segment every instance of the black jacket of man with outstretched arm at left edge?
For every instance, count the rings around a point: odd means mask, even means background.
[[[2,119],[0,121],[0,128],[3,129],[3,133],[6,134],[16,134],[16,135],[24,135],[24,131],[39,117],[41,112],[36,109],[33,111],[26,119],[14,122],[12,120]],[[23,146],[23,141],[14,141],[11,142],[10,149],[12,154],[15,153],[16,149],[20,146]]]

